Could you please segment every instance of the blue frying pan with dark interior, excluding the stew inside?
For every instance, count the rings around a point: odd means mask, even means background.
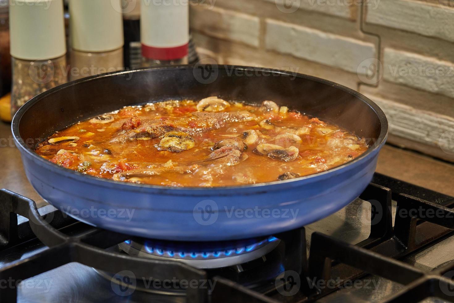
[[[371,146],[347,164],[318,174],[216,188],[100,179],[59,167],[33,152],[35,144],[55,131],[126,105],[213,95],[252,104],[273,100],[335,123],[369,139]],[[49,203],[87,224],[181,241],[270,235],[336,212],[372,179],[387,131],[381,109],[354,90],[308,75],[232,65],[142,69],[80,79],[31,99],[12,123],[25,173]]]

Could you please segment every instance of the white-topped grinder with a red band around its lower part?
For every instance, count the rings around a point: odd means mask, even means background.
[[[188,63],[188,2],[142,0],[140,35],[144,67]]]

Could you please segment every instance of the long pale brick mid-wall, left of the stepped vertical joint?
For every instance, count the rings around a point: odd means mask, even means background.
[[[265,40],[268,50],[354,73],[361,61],[375,57],[372,43],[270,19],[266,20]]]

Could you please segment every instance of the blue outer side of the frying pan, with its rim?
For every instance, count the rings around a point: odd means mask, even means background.
[[[19,139],[18,120],[16,115],[12,126],[16,145],[30,183],[44,199],[87,224],[181,241],[270,235],[336,212],[369,184],[387,134],[382,125],[383,138],[365,154],[311,176],[236,187],[169,188],[88,177],[51,164]]]

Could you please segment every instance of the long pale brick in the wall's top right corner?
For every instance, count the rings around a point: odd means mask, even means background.
[[[437,1],[438,2],[438,1]],[[414,0],[380,0],[366,22],[454,41],[454,9]]]

